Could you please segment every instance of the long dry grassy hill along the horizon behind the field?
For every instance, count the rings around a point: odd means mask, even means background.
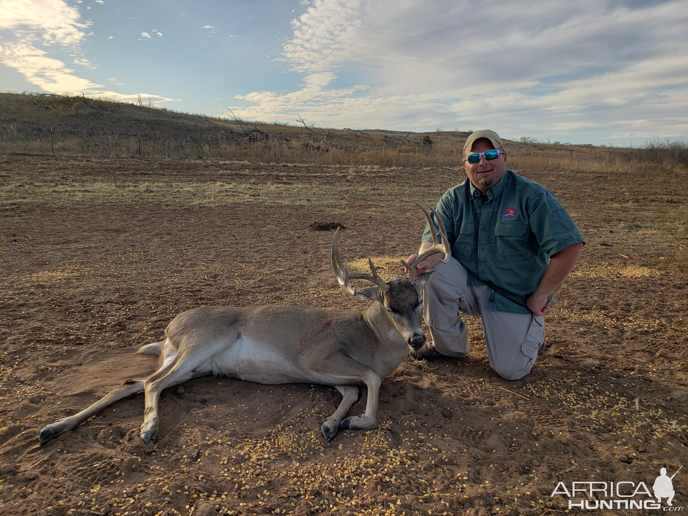
[[[305,123],[211,118],[78,96],[0,94],[2,153],[460,166],[469,133],[323,129]],[[513,168],[613,171],[645,163],[663,162],[672,169],[688,164],[685,144],[669,142],[619,149],[524,141],[505,142],[505,149]]]

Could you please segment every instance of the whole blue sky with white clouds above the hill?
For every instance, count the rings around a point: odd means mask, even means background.
[[[323,127],[688,136],[685,0],[0,0],[0,89]]]

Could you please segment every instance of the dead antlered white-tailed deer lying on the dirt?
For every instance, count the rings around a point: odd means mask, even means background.
[[[418,203],[416,203],[418,204]],[[420,204],[418,204],[420,206]],[[371,259],[371,273],[350,272],[346,260],[339,257],[338,230],[332,239],[332,268],[344,290],[373,304],[365,312],[337,312],[295,305],[236,308],[203,306],[176,316],[166,327],[164,339],[147,344],[138,353],[160,357],[159,369],[148,378],[127,380],[93,405],[49,424],[41,431],[41,444],[74,429],[108,405],[136,394],[145,393],[141,438],[149,444],[158,436],[158,399],[167,387],[191,378],[224,374],[241,380],[264,384],[321,383],[334,385],[343,399],[321,430],[331,440],[343,429],[371,429],[377,425],[378,394],[382,379],[409,354],[425,342],[420,326],[421,291],[431,272],[416,281],[416,266],[435,254],[444,252],[445,263],[451,257],[442,219],[436,215],[441,243],[433,221],[427,218],[433,246],[418,256],[407,275],[385,282],[378,276]],[[356,290],[352,279],[366,279],[375,286]],[[368,397],[365,413],[345,418],[358,399],[358,386],[365,385]]]

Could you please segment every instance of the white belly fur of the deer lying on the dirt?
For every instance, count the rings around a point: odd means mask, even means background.
[[[196,368],[256,383],[314,381],[308,369],[297,367],[275,347],[251,338],[239,337],[223,352]]]

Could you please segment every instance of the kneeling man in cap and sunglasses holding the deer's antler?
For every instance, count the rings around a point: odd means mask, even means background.
[[[418,265],[434,269],[423,292],[432,341],[420,358],[463,357],[466,325],[458,312],[481,316],[490,365],[507,380],[530,372],[545,341],[543,319],[552,292],[573,269],[583,237],[544,186],[506,170],[495,131],[475,131],[464,146],[466,179],[447,190],[437,211],[451,259],[441,253]],[[426,226],[418,254],[431,246]],[[418,256],[411,255],[411,264]]]

